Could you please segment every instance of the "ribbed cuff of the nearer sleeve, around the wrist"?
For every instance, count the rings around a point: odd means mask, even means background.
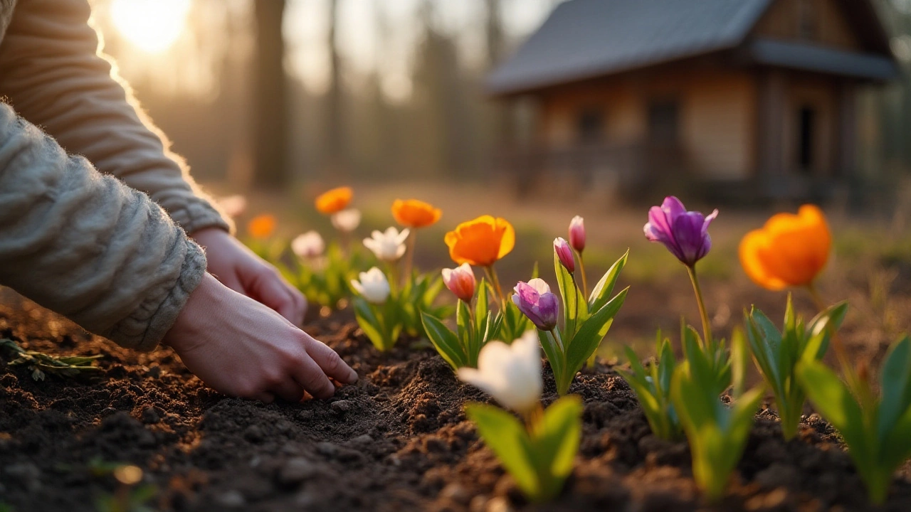
[[[111,329],[107,338],[122,347],[148,352],[158,346],[168,333],[187,303],[189,294],[196,290],[206,273],[206,255],[202,248],[189,239],[179,243],[185,244],[186,249],[174,285],[163,291],[163,297],[162,294],[155,294],[141,303],[135,312]]]

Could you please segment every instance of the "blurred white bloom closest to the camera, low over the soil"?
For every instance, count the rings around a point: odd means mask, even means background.
[[[477,356],[477,369],[459,368],[458,378],[517,413],[535,410],[544,387],[537,333],[527,331],[511,345],[487,343]]]

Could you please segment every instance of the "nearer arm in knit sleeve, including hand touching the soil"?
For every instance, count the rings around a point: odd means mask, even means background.
[[[281,316],[222,286],[145,194],[69,156],[0,103],[0,285],[138,350],[162,337],[216,390],[333,394],[356,374]],[[167,334],[167,336],[166,336]]]

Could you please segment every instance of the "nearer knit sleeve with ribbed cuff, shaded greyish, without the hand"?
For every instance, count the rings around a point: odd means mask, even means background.
[[[0,103],[0,285],[151,350],[205,269],[200,247],[159,205]]]

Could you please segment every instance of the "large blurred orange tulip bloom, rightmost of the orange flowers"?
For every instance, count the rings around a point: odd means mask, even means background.
[[[761,230],[741,241],[743,270],[753,282],[769,290],[804,286],[823,270],[832,247],[832,235],[822,210],[812,204],[797,215],[778,213]]]

